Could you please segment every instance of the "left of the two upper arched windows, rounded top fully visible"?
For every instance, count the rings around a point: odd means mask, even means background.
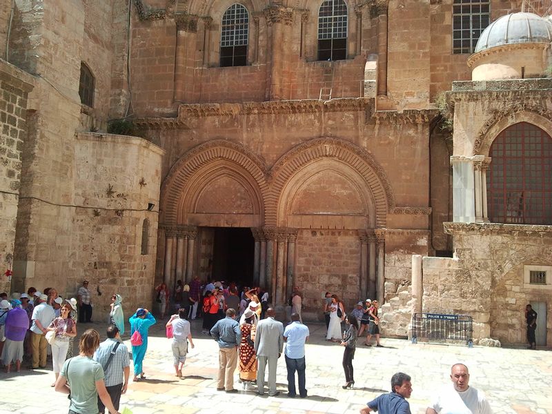
[[[249,13],[234,3],[222,16],[220,66],[246,66],[249,41]]]

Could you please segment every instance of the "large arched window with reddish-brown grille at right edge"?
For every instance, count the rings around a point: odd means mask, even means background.
[[[489,219],[508,224],[552,224],[550,135],[520,122],[500,132],[489,156]]]

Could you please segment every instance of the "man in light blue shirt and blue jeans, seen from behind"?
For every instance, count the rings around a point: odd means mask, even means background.
[[[308,341],[308,327],[299,322],[299,313],[291,314],[291,324],[284,331],[286,342],[286,368],[288,368],[288,397],[295,397],[295,371],[299,380],[299,395],[306,397],[305,389],[305,342]]]

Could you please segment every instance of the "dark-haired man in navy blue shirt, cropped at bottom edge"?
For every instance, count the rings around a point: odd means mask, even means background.
[[[368,402],[365,408],[360,410],[360,414],[368,414],[371,411],[377,411],[380,414],[411,414],[410,404],[406,398],[410,398],[412,393],[412,384],[409,375],[396,373],[391,377],[391,393],[382,394],[375,400]]]

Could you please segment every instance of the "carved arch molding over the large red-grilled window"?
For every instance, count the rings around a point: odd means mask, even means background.
[[[515,102],[496,110],[485,121],[473,143],[473,155],[489,157],[489,149],[495,138],[509,126],[528,122],[552,135],[552,110],[539,102]]]

